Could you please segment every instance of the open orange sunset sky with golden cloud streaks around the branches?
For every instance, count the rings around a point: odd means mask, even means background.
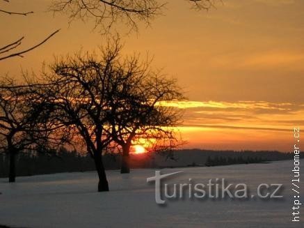
[[[61,29],[24,58],[1,61],[1,75],[39,73],[42,61],[104,43],[93,22],[69,26],[65,15],[47,12],[49,3],[0,1],[6,10],[34,11],[1,15],[0,46],[25,36],[22,47],[30,47]],[[149,53],[155,68],[178,79],[189,102],[172,105],[184,110],[186,148],[291,151],[294,126],[304,126],[303,9],[303,0],[223,0],[198,12],[168,0],[151,27],[122,38],[124,52]]]

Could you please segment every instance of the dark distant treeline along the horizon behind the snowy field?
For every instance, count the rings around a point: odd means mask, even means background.
[[[304,153],[301,152],[301,158]],[[119,155],[104,155],[106,169],[120,169]],[[278,151],[207,151],[184,149],[174,152],[173,159],[159,154],[142,153],[130,155],[130,167],[136,169],[161,169],[165,167],[216,166],[267,162],[293,159],[292,153]],[[0,177],[8,176],[8,156],[0,153]],[[17,176],[54,174],[60,172],[94,171],[95,165],[89,155],[79,155],[77,151],[59,149],[51,153],[17,156]]]

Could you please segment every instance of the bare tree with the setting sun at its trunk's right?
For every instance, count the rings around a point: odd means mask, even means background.
[[[175,79],[153,73],[149,65],[132,56],[124,63],[125,70],[111,81],[109,122],[111,137],[122,153],[122,174],[130,172],[131,146],[143,144],[155,153],[172,151],[181,143],[175,128],[181,113],[166,103],[184,100],[182,89]]]

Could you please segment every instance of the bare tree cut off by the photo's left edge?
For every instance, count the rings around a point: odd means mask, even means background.
[[[0,82],[0,152],[10,158],[9,182],[15,182],[18,153],[32,153],[39,146],[47,148],[59,142],[51,137],[54,126],[40,118],[46,103],[33,89],[33,86],[17,85],[12,79]]]

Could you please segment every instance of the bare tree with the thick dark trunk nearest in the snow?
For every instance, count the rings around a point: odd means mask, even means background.
[[[109,66],[111,52],[97,61],[96,56],[77,54],[67,59],[57,59],[51,74],[44,79],[51,84],[42,93],[53,105],[51,119],[63,123],[74,138],[75,146],[86,147],[93,158],[99,177],[98,191],[109,191],[102,153],[111,142],[107,134],[109,80],[113,70]]]

